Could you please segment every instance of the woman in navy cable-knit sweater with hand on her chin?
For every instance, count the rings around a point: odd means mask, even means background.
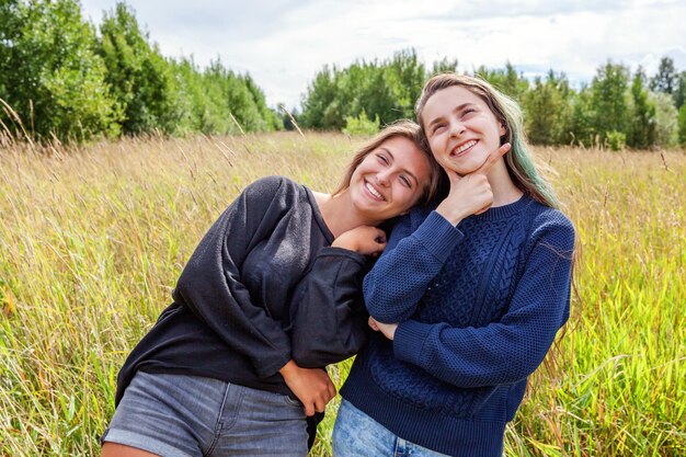
[[[395,226],[364,279],[378,332],[341,389],[336,457],[501,456],[527,377],[569,318],[574,229],[516,103],[446,73],[416,116],[450,191]]]

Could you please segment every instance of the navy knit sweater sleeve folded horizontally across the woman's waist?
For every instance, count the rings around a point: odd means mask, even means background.
[[[563,216],[538,227],[507,312],[482,328],[408,320],[398,327],[397,358],[458,387],[522,380],[542,362],[569,318],[574,230]]]

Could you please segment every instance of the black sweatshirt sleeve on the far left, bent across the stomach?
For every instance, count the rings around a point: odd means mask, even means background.
[[[232,350],[250,358],[261,377],[277,373],[290,359],[290,341],[279,322],[251,301],[240,267],[286,213],[284,181],[266,178],[245,187],[205,235],[173,294]]]

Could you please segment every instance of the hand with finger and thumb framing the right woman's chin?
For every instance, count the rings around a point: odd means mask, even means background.
[[[450,191],[448,196],[441,202],[436,212],[456,226],[472,214],[488,210],[493,204],[493,191],[485,175],[493,163],[498,162],[510,148],[508,142],[504,144],[491,152],[478,170],[464,176],[451,170],[446,170],[450,180]]]

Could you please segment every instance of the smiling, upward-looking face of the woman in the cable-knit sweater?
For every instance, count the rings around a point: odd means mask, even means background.
[[[434,93],[422,119],[436,161],[460,175],[481,167],[506,132],[483,99],[461,85]]]

